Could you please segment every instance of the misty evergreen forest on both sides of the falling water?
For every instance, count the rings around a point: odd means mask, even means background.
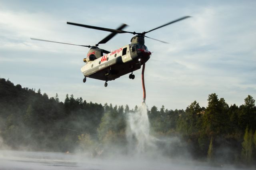
[[[98,152],[121,148],[127,153],[126,115],[130,108],[110,103],[88,102],[81,97],[58,94],[49,97],[40,89],[22,88],[0,78],[0,149],[50,152]],[[244,104],[228,105],[212,93],[207,107],[197,101],[185,110],[164,106],[148,108],[150,134],[156,138],[178,138],[176,142],[157,142],[166,157],[255,165],[256,107],[248,95]]]

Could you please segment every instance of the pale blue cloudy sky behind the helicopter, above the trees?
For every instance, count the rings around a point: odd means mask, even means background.
[[[128,24],[126,31],[148,31],[182,16],[192,16],[147,34],[153,52],[146,63],[146,104],[186,109],[193,101],[207,106],[216,93],[231,105],[256,98],[256,1],[67,1],[0,0],[0,77],[15,85],[40,88],[60,101],[66,94],[87,102],[130,108],[142,102],[141,70],[108,82],[84,78],[88,48],[39,42],[39,38],[94,45],[109,32],[67,25],[75,22],[105,28]],[[130,43],[120,34],[99,47],[108,51]]]

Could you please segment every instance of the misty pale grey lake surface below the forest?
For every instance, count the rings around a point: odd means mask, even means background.
[[[0,150],[0,170],[240,170],[186,160],[142,156],[90,158],[82,154]],[[242,170],[242,169],[241,169]]]

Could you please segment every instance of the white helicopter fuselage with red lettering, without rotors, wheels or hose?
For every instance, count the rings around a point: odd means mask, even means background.
[[[111,81],[140,69],[141,65],[148,61],[150,54],[145,45],[132,43],[88,61],[81,71],[84,77]]]

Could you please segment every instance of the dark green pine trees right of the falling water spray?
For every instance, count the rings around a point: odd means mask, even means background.
[[[168,111],[164,106],[149,112],[151,125],[159,134],[180,134],[194,158],[216,162],[255,163],[256,107],[248,95],[244,105],[228,106],[213,93],[208,106],[192,102],[185,111]]]

